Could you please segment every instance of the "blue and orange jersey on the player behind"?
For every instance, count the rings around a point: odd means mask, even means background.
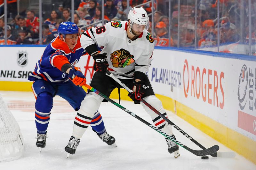
[[[70,63],[74,67],[80,57],[85,55],[85,50],[81,47],[80,37],[74,49],[69,49],[68,45],[56,36],[45,48],[40,60],[36,62],[34,72],[28,80],[35,81],[43,79],[48,82],[60,84],[69,80],[68,74],[61,71],[61,67]]]

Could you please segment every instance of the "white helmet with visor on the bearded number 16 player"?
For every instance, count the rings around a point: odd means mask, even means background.
[[[128,18],[128,21],[130,20],[130,28],[133,28],[132,25],[135,23],[140,26],[145,26],[145,29],[148,30],[148,26],[149,26],[148,14],[142,7],[132,8],[129,11],[127,18]],[[136,31],[139,31],[139,30],[136,30]]]

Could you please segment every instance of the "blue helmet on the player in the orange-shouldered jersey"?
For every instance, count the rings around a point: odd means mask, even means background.
[[[64,38],[66,36],[66,34],[74,34],[74,33],[78,33],[78,26],[73,23],[73,22],[62,22],[60,23],[60,26],[58,28],[58,34],[60,36],[60,34],[63,34]]]

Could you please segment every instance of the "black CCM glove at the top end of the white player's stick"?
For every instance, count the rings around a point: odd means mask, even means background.
[[[93,55],[94,65],[93,70],[106,73],[108,68],[107,53]]]

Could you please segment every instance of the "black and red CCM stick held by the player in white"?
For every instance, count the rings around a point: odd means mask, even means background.
[[[122,81],[120,81],[118,78],[116,78],[112,73],[109,71],[106,72],[106,74],[113,78],[118,84],[120,84],[124,89],[126,89],[129,93],[132,93],[133,91],[126,86]],[[186,132],[181,130],[177,125],[175,125],[173,122],[171,122],[168,118],[166,118],[164,115],[162,115],[160,112],[158,112],[154,107],[152,107],[148,102],[141,99],[142,103],[144,103],[146,106],[148,106],[151,110],[153,110],[157,115],[159,115],[161,118],[163,118],[166,122],[168,122],[172,127],[177,129],[180,133],[182,133],[184,136],[186,136],[188,139],[190,139],[192,142],[194,142],[197,146],[199,146],[201,149],[206,149],[203,145],[199,144],[194,138],[190,137]],[[215,152],[211,154],[212,157],[222,157],[222,158],[234,158],[236,156],[235,152]]]

